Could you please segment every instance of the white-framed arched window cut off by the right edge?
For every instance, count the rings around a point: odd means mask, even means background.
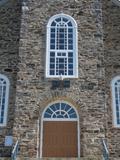
[[[120,127],[120,76],[112,80],[113,121],[115,127]]]

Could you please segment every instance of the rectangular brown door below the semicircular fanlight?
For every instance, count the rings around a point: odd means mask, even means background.
[[[78,157],[76,121],[43,122],[43,157]]]

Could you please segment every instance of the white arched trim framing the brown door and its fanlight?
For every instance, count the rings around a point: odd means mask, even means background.
[[[41,134],[40,134],[40,158],[42,158],[42,146],[43,146],[43,122],[47,119],[44,119],[44,114],[45,111],[53,104],[55,103],[66,103],[68,105],[70,105],[76,112],[77,118],[76,119],[70,119],[68,118],[66,121],[77,121],[77,135],[78,135],[78,158],[80,158],[80,125],[79,125],[79,114],[77,109],[69,102],[64,101],[64,100],[57,100],[54,102],[49,103],[49,105],[43,110],[42,113],[42,117],[41,117]],[[58,119],[59,121],[65,121],[65,119]],[[48,121],[50,121],[50,119],[48,119]],[[51,121],[53,121],[53,119],[51,119]],[[57,119],[55,119],[55,121],[57,121]]]

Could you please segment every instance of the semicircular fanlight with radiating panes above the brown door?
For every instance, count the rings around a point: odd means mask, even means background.
[[[43,114],[43,119],[53,120],[77,120],[76,110],[66,102],[56,102],[47,107]]]

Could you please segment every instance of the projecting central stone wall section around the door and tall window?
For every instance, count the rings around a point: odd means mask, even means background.
[[[23,10],[17,75],[14,137],[20,139],[21,157],[40,154],[41,115],[56,100],[71,102],[80,115],[81,157],[101,159],[104,137],[104,54],[101,2],[96,0],[28,0]],[[46,25],[58,13],[78,24],[79,78],[70,88],[51,89],[45,78]],[[37,142],[39,142],[37,146]],[[22,159],[22,158],[21,158]]]

